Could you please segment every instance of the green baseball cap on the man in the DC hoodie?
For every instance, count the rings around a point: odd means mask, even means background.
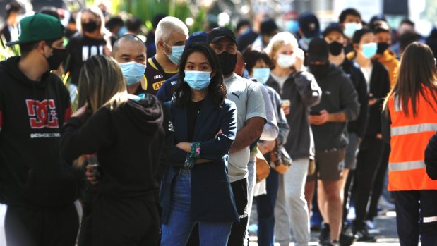
[[[20,21],[18,35],[17,41],[8,42],[6,45],[60,39],[64,36],[64,26],[56,17],[35,13],[35,15],[25,17]]]

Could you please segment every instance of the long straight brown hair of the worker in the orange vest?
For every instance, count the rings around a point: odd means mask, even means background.
[[[434,102],[437,102],[437,68],[433,51],[428,45],[419,42],[410,44],[402,55],[397,73],[395,86],[385,98],[385,106],[392,95],[399,97],[398,103],[402,106],[405,116],[408,117],[408,102],[411,100],[413,116],[415,117],[417,116],[417,97],[419,94],[424,97],[428,104],[432,105],[430,99],[424,95],[424,87],[431,90],[431,97]]]

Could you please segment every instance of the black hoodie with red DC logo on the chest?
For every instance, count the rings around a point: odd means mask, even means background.
[[[19,61],[0,63],[0,203],[68,204],[78,194],[73,169],[59,155],[61,125],[71,115],[68,90],[52,73],[29,80]]]

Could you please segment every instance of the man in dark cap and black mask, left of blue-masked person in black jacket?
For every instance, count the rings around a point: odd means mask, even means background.
[[[367,125],[367,114],[369,110],[368,97],[367,97],[367,85],[366,79],[363,73],[359,69],[357,63],[346,59],[344,47],[345,47],[345,35],[337,23],[333,23],[326,27],[323,31],[323,38],[328,42],[329,56],[328,60],[335,66],[338,66],[345,72],[355,90],[357,90],[359,107],[359,116],[355,121],[349,121],[347,123],[347,133],[349,144],[345,149],[345,169],[343,171],[342,187],[345,187],[345,194],[343,198],[343,217],[342,217],[342,234],[340,235],[340,243],[342,245],[352,244],[354,238],[350,230],[345,223],[348,208],[349,208],[349,193],[350,187],[353,183],[354,175],[351,173],[357,167],[357,149],[359,143],[364,137],[364,132]]]

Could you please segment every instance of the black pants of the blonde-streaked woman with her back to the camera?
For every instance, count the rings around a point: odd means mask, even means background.
[[[157,204],[144,199],[93,197],[84,204],[79,246],[155,246],[160,243]]]

